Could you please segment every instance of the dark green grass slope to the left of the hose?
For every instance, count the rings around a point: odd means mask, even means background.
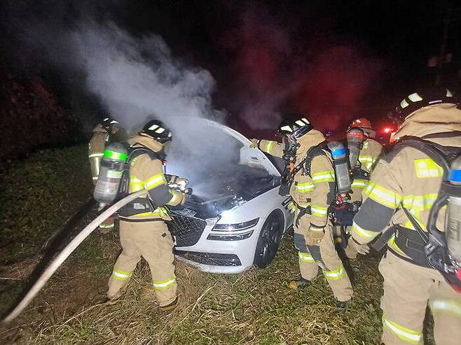
[[[41,150],[0,176],[0,265],[36,254],[90,197],[87,149]]]

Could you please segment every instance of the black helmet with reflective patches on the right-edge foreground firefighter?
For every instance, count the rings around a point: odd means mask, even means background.
[[[397,120],[397,122],[403,122],[408,115],[419,108],[441,103],[456,103],[455,99],[453,99],[453,94],[445,87],[429,87],[418,90],[408,94],[397,108],[390,113],[390,118]]]

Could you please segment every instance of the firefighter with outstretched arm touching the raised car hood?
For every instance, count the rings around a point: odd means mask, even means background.
[[[283,144],[276,141],[252,139],[252,147],[258,147],[270,155],[283,157],[291,165],[288,183],[289,194],[296,211],[294,214],[294,242],[298,249],[301,279],[291,281],[289,286],[305,286],[317,276],[322,268],[329,282],[338,307],[345,307],[352,297],[352,286],[333,243],[328,208],[335,197],[335,174],[331,155],[322,154],[307,157],[308,150],[325,141],[322,133],[313,129],[310,122],[298,116],[293,122],[283,121],[279,127]],[[310,160],[310,174],[304,166]],[[291,180],[291,181],[290,181]],[[283,185],[282,187],[283,188]]]

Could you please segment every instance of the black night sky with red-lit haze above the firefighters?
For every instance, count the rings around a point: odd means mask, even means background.
[[[455,90],[459,83],[456,1],[6,1],[3,6],[3,69],[26,69],[16,58],[24,48],[11,23],[31,16],[69,25],[86,15],[110,18],[136,36],[160,34],[174,56],[209,70],[216,80],[216,107],[225,108],[228,122],[240,127],[257,128],[263,121],[252,118],[251,104],[261,111],[267,104],[270,111],[302,111],[322,129],[342,129],[357,116],[384,118],[413,85],[434,83],[437,70],[427,60],[439,55],[446,18],[445,52],[453,59],[443,66],[442,83]]]

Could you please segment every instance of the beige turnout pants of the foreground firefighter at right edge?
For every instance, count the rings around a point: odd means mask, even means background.
[[[423,344],[426,307],[434,317],[437,345],[461,342],[461,293],[450,288],[435,269],[402,260],[387,251],[379,270],[384,278],[383,337],[385,345]]]

